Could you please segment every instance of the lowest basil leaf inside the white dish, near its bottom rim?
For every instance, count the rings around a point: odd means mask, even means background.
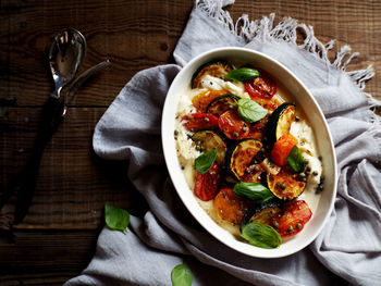
[[[250,245],[261,248],[275,248],[282,244],[281,235],[270,225],[248,223],[242,228],[241,236]]]

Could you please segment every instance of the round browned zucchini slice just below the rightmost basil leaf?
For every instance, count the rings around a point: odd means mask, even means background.
[[[278,198],[292,200],[305,189],[306,184],[296,179],[295,174],[282,170],[279,174],[262,173],[262,184]]]

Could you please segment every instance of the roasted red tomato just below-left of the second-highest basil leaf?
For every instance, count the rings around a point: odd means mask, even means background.
[[[231,140],[246,138],[249,133],[248,123],[244,122],[236,110],[228,110],[219,117],[221,132]]]

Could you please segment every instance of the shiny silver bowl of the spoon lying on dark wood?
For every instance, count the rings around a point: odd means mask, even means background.
[[[49,66],[54,80],[52,97],[60,97],[61,89],[78,72],[85,54],[86,40],[78,30],[65,28],[56,35],[49,50]]]

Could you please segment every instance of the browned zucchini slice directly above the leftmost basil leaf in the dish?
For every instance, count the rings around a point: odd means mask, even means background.
[[[228,148],[220,135],[212,130],[200,130],[195,133],[192,139],[196,142],[196,147],[199,146],[202,148],[204,152],[217,149],[216,161],[219,165],[223,166]]]

